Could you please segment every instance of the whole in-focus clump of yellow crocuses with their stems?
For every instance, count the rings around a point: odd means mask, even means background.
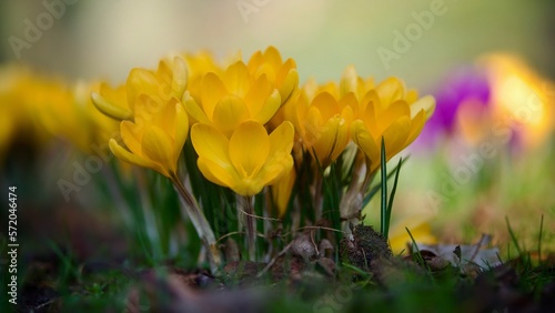
[[[171,181],[213,270],[222,256],[205,215],[218,208],[192,193],[193,172],[235,194],[246,253],[256,260],[264,255],[256,251],[256,238],[265,235],[260,221],[278,230],[289,216],[292,232],[323,224],[342,232],[359,222],[382,152],[387,161],[411,144],[435,107],[433,97],[420,97],[397,78],[363,79],[354,67],[339,81],[300,84],[295,61],[274,47],[229,63],[209,52],[168,55],[158,68],[132,69],[119,85],[80,88],[90,99],[44,88],[52,101],[83,101],[72,110],[103,134],[88,140],[105,140],[119,160]],[[330,195],[331,184],[337,196]]]

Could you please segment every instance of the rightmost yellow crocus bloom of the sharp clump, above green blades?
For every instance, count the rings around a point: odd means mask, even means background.
[[[416,139],[435,108],[433,97],[417,99],[415,91],[405,92],[403,83],[395,78],[381,82],[355,103],[356,120],[351,125],[351,134],[366,155],[370,174],[380,168],[382,137],[390,160]]]

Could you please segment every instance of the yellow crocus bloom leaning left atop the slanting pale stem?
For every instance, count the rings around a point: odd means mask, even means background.
[[[178,99],[159,101],[141,94],[134,105],[134,122],[122,121],[120,124],[121,138],[129,151],[115,139],[110,140],[110,150],[128,163],[174,178],[178,159],[189,133],[189,118]],[[160,109],[153,113],[152,107]]]

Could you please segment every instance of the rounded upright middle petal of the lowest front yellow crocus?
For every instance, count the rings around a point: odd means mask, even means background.
[[[264,127],[255,121],[242,123],[230,139],[230,159],[241,176],[251,178],[264,165],[270,140]]]

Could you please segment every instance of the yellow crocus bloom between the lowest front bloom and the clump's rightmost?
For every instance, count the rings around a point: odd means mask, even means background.
[[[333,90],[331,85],[316,88]],[[311,98],[310,94],[315,94]],[[327,168],[347,145],[353,109],[356,99],[352,93],[337,100],[329,91],[315,91],[309,82],[293,108],[292,121],[304,149]]]

